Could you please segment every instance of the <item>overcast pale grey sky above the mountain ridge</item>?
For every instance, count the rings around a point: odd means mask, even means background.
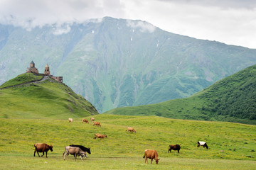
[[[256,49],[256,0],[0,0],[0,23],[24,28],[104,16]]]

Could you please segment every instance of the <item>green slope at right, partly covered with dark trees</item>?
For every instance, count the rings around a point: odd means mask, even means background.
[[[115,108],[116,115],[220,120],[256,125],[256,65],[217,81],[188,98],[146,106]]]

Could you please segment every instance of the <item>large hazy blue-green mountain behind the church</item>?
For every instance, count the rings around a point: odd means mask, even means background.
[[[103,113],[185,98],[256,64],[256,50],[169,33],[116,18],[26,30],[0,25],[0,84],[26,71],[63,76]]]

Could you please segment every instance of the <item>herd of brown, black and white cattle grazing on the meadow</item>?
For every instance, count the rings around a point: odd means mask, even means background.
[[[90,120],[94,121],[95,118],[90,118]],[[73,119],[68,118],[68,122],[73,123]],[[84,122],[89,123],[88,120],[82,119],[82,123],[84,123]],[[97,125],[97,126],[101,127],[99,122],[93,122],[93,125]],[[127,132],[136,132],[136,130],[134,130],[134,128],[127,128]],[[100,139],[104,139],[105,137],[107,137],[107,135],[96,133],[94,139],[96,139],[97,137],[100,138]],[[203,148],[206,147],[206,149],[208,149],[208,145],[206,144],[206,142],[198,141],[197,147],[200,147],[200,146],[203,146]],[[47,145],[46,143],[36,143],[34,145],[34,147],[35,147],[34,157],[35,157],[36,152],[38,154],[38,157],[40,157],[38,152],[43,152],[43,155],[44,155],[44,152],[46,152],[46,157],[47,157],[48,150],[53,152],[53,145]],[[177,150],[178,154],[179,154],[180,149],[181,149],[181,145],[169,145],[168,153],[171,152],[171,150]],[[87,158],[86,152],[88,154],[91,154],[90,148],[84,147],[82,145],[69,145],[69,146],[65,147],[65,151],[63,152],[63,157],[64,157],[64,160],[65,160],[66,156],[67,156],[67,159],[68,159],[68,155],[71,154],[75,157],[75,161],[76,161],[76,158],[78,156],[80,156],[80,159],[82,160],[82,157]],[[43,157],[43,155],[41,155],[41,157]],[[154,150],[154,149],[146,149],[144,151],[144,157],[143,158],[145,158],[145,163],[146,162],[149,163],[147,161],[147,159],[149,158],[149,159],[151,159],[151,164],[153,162],[153,159],[156,161],[156,164],[158,164],[158,162],[160,160],[160,158],[158,158],[158,157],[159,157],[159,155],[157,154],[156,150]]]

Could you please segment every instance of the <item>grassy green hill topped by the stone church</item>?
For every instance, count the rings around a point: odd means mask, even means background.
[[[21,74],[0,86],[0,118],[68,119],[97,114],[85,98],[43,74]]]

